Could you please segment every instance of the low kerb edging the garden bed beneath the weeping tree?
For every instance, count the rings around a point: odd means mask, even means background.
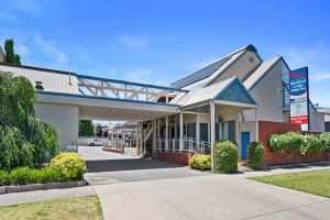
[[[29,185],[16,185],[16,186],[2,186],[0,187],[1,194],[12,194],[22,191],[34,191],[34,190],[47,190],[47,189],[63,189],[73,187],[87,186],[88,183],[84,180],[77,182],[64,182],[64,183],[47,183],[47,184],[29,184]]]

